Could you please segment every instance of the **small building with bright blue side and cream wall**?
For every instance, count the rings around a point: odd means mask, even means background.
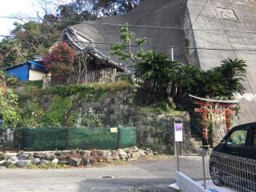
[[[21,82],[42,80],[47,77],[47,71],[41,62],[28,61],[8,66],[4,69],[6,74],[18,78]]]

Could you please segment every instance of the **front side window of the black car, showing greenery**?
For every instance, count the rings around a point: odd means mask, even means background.
[[[235,130],[230,137],[227,138],[227,146],[246,146],[246,135],[248,130]]]

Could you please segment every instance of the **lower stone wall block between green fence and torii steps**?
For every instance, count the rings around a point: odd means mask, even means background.
[[[155,114],[137,111],[135,125],[138,130],[138,144],[149,146],[159,152],[174,154],[174,122],[183,122],[183,150],[191,152],[190,116],[187,112],[177,114]]]

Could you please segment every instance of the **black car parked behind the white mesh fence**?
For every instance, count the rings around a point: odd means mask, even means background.
[[[216,186],[256,191],[256,122],[230,130],[210,154],[209,169]]]

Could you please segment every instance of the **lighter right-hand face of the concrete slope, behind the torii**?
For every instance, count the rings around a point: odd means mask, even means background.
[[[254,0],[188,0],[188,15],[193,25],[196,47],[223,50],[197,50],[199,66],[203,70],[220,65],[223,58],[246,61],[247,79],[241,100],[242,115],[236,124],[254,122],[256,108],[256,1]],[[249,32],[250,31],[250,32]],[[186,32],[187,33],[187,32]],[[235,50],[235,51],[233,51]]]

